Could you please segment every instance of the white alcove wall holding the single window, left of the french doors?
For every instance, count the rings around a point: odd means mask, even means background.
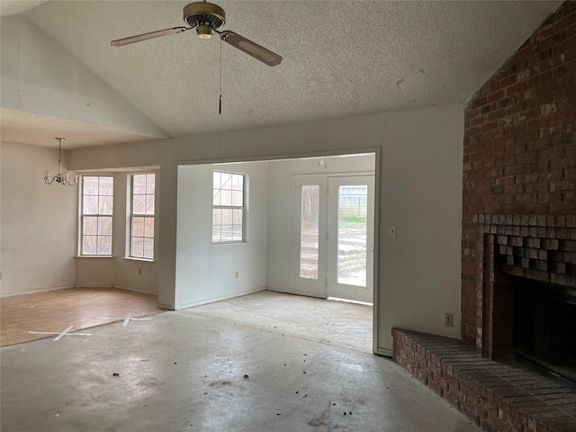
[[[247,175],[245,243],[211,243],[214,170]],[[267,181],[266,162],[178,167],[176,309],[266,289]]]

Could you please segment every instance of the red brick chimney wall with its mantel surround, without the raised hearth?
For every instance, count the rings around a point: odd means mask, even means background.
[[[565,2],[464,114],[461,328],[483,356],[510,338],[492,255],[504,273],[575,286],[575,184],[576,2]]]

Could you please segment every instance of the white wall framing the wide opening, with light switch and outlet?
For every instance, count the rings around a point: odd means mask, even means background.
[[[376,151],[380,219],[378,352],[390,354],[391,329],[401,326],[460,336],[460,258],[464,108],[315,121],[263,130],[210,134],[152,143],[73,150],[70,167],[159,165],[162,173],[158,302],[183,304],[176,284],[176,166],[191,162],[277,159]],[[396,225],[397,238],[388,238]],[[445,312],[455,316],[444,327]]]

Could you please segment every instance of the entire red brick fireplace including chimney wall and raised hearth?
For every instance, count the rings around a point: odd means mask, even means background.
[[[463,172],[462,340],[393,329],[394,359],[485,430],[574,431],[575,391],[493,360],[533,346],[530,332],[574,329],[576,2],[561,4],[473,95]],[[534,329],[518,336],[523,327]],[[576,336],[551,340],[526,356],[576,345]]]

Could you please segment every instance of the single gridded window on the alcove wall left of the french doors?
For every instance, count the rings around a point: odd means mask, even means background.
[[[241,189],[242,203],[241,203],[241,205],[233,204],[231,201],[229,203],[227,203],[227,202],[221,203],[221,201],[226,201],[224,199],[223,195],[221,194],[222,192],[232,194],[234,192],[238,192],[238,189],[232,189],[233,186],[223,187],[223,185],[221,183],[219,186],[217,186],[214,183],[214,177],[217,174],[230,175],[230,181],[232,180],[232,176],[234,176],[234,175],[242,178],[242,189]],[[221,176],[220,176],[220,180],[221,180]],[[220,200],[218,199],[218,193],[220,193]],[[231,173],[231,172],[221,171],[221,170],[214,170],[213,171],[213,175],[212,175],[212,209],[211,209],[212,210],[212,223],[211,223],[212,245],[226,245],[226,244],[237,244],[237,243],[246,243],[247,242],[247,201],[248,201],[248,176],[246,174]],[[219,217],[217,216],[218,211],[220,211],[220,224],[216,223],[216,220],[219,219]],[[231,213],[232,224],[229,224],[231,229],[232,229],[232,236],[231,236],[232,238],[231,239],[230,238],[222,239],[222,227],[226,225],[226,224],[221,223],[222,211],[232,211],[232,213]],[[233,226],[238,225],[238,224],[233,223],[234,211],[240,211],[240,214],[242,217],[241,238],[234,238]],[[219,229],[216,230],[217,227]],[[220,237],[220,239],[217,239],[218,237]]]

